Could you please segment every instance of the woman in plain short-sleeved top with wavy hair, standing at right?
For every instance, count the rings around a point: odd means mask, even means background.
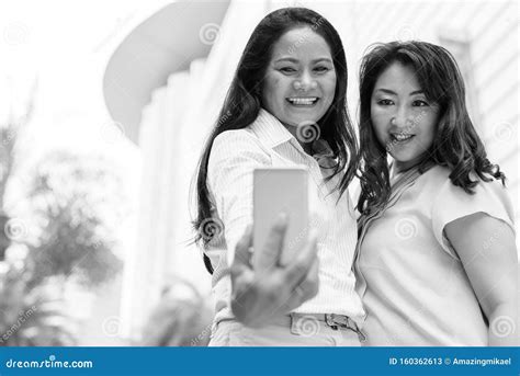
[[[366,344],[515,344],[512,205],[454,58],[423,42],[376,45],[362,60],[360,100]]]

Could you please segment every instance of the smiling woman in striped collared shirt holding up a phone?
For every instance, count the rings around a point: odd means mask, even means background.
[[[216,303],[211,344],[360,344],[357,323],[364,312],[351,272],[357,229],[347,192],[358,168],[358,146],[346,94],[344,50],[321,15],[280,9],[255,29],[196,179],[194,227],[213,272]],[[231,299],[228,265],[252,223],[253,169],[294,166],[308,169],[324,214],[316,220],[319,266],[313,266],[319,290],[290,315],[273,316],[253,329],[255,317],[235,316],[240,307]],[[285,225],[286,218],[280,218],[279,227]]]

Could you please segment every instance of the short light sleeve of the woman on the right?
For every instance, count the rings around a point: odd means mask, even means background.
[[[476,213],[485,213],[490,217],[506,223],[515,232],[515,214],[507,189],[500,181],[479,181],[474,187],[474,194],[468,194],[460,186],[455,186],[448,179],[441,186],[433,201],[432,227],[433,232],[444,251],[459,259],[455,250],[444,235],[444,227],[459,218]]]

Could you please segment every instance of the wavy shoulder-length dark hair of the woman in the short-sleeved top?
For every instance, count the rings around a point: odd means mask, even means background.
[[[370,47],[360,68],[360,150],[361,213],[383,207],[391,194],[387,150],[375,136],[371,121],[371,98],[377,78],[394,62],[410,67],[426,98],[439,105],[439,123],[429,150],[418,163],[420,172],[434,162],[450,169],[451,182],[474,193],[478,180],[506,176],[486,155],[465,104],[464,80],[453,56],[443,47],[426,42],[391,42]]]

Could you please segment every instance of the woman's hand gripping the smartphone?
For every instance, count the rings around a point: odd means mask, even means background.
[[[309,240],[297,258],[281,266],[279,260],[286,229],[286,217],[280,217],[264,249],[257,254],[261,273],[255,271],[251,264],[251,226],[237,243],[231,265],[231,309],[246,326],[261,327],[273,317],[289,314],[318,293],[316,232],[310,231]]]

